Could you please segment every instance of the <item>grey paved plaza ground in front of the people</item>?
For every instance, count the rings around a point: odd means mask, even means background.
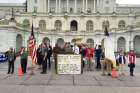
[[[138,59],[138,62],[140,59]],[[140,63],[137,62],[135,76],[129,76],[126,65],[125,76],[111,78],[102,76],[101,71],[84,71],[82,75],[57,75],[51,69],[47,74],[17,74],[19,59],[14,75],[7,75],[7,63],[0,64],[0,93],[140,93]],[[30,71],[28,71],[30,72]]]

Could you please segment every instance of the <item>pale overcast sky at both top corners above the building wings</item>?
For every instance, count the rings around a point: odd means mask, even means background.
[[[120,4],[140,4],[140,0],[116,0]],[[0,3],[23,3],[25,0],[0,0]]]

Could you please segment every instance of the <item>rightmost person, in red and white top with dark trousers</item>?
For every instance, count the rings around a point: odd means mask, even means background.
[[[136,64],[136,54],[133,50],[130,51],[128,54],[128,67],[130,68],[130,76],[134,76],[134,68]]]

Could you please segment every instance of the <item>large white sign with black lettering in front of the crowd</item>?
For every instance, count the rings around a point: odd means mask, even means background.
[[[81,74],[81,55],[59,54],[57,56],[58,74]]]

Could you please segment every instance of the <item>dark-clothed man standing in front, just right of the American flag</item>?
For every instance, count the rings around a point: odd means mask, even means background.
[[[41,74],[46,74],[47,73],[47,54],[48,54],[48,49],[46,43],[41,44],[41,61],[42,61],[42,72]]]

